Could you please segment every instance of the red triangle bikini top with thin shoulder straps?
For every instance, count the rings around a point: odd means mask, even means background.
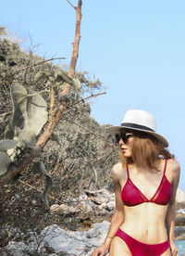
[[[160,205],[166,205],[172,196],[172,187],[165,175],[166,163],[167,160],[165,161],[164,174],[161,179],[161,182],[156,192],[154,193],[154,196],[151,199],[146,198],[142,194],[142,191],[132,183],[132,181],[129,178],[129,166],[127,165],[128,179],[121,191],[121,198],[124,204],[127,206],[135,206],[143,202],[153,202]]]

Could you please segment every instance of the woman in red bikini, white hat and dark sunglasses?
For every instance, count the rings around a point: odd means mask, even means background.
[[[113,167],[116,211],[102,247],[93,256],[178,255],[174,243],[175,199],[179,163],[155,132],[154,117],[129,110],[121,126],[109,127],[120,146]]]

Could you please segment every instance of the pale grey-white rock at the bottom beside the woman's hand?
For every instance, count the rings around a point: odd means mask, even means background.
[[[43,229],[40,248],[45,243],[53,249],[57,255],[81,255],[88,256],[93,248],[104,243],[106,233],[109,227],[108,222],[94,224],[89,231],[65,231],[56,224]],[[68,252],[68,254],[66,254]],[[65,254],[64,254],[65,253]]]

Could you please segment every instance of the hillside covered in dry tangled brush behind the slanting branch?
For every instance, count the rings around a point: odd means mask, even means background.
[[[0,35],[3,29],[0,30]],[[47,61],[33,53],[25,52],[20,45],[0,36],[0,139],[6,134],[6,127],[12,115],[10,88],[19,83],[29,92],[34,90],[42,96],[50,109],[50,95],[47,92],[48,77],[52,80],[61,62]],[[63,70],[65,71],[65,70]],[[40,75],[38,79],[38,73]],[[84,189],[112,189],[111,168],[117,161],[114,138],[105,133],[91,117],[91,106],[83,100],[103,90],[98,80],[91,81],[87,71],[76,72],[80,88],[72,87],[68,108],[56,127],[56,134],[44,147],[43,152],[14,180],[0,189],[0,229],[19,229],[20,232],[39,231],[49,224],[60,224],[63,228],[75,229],[75,215],[51,214],[50,206],[68,204],[68,198],[78,198]],[[55,90],[56,100],[58,91]],[[37,123],[35,123],[37,125]],[[43,127],[44,129],[44,127]],[[21,159],[20,159],[21,160]],[[47,190],[47,177],[39,172],[43,161],[52,187]],[[7,234],[6,234],[7,235]],[[6,246],[14,235],[0,236],[0,247]]]

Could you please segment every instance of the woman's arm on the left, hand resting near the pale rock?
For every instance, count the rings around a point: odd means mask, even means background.
[[[113,167],[112,171],[113,182],[115,187],[116,211],[112,216],[111,224],[107,236],[105,238],[104,245],[102,247],[95,249],[92,254],[93,256],[103,256],[108,252],[112,242],[112,238],[115,236],[119,226],[124,222],[124,204],[121,199],[121,186],[119,184],[119,177],[121,172],[123,172],[122,165],[120,163],[117,163]]]

